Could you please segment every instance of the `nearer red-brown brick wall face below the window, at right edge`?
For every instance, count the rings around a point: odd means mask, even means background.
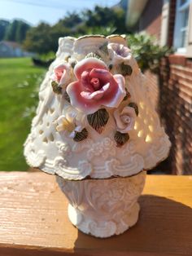
[[[180,55],[162,60],[159,90],[172,174],[192,174],[192,60]]]

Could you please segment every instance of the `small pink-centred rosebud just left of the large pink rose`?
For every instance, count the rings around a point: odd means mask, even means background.
[[[59,86],[67,85],[70,79],[70,65],[68,63],[59,64],[54,68],[52,79],[58,83]]]

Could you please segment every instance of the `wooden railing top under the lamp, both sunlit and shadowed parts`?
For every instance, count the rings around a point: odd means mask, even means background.
[[[192,255],[192,176],[148,175],[137,224],[97,239],[68,220],[55,177],[0,173],[0,256]]]

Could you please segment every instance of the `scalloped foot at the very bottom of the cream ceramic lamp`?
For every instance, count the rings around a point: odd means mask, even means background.
[[[81,232],[100,238],[107,238],[120,235],[136,224],[139,210],[140,206],[136,202],[129,210],[124,211],[124,214],[121,213],[120,218],[116,216],[116,219],[106,220],[102,217],[96,219],[88,214],[82,214],[80,210],[69,204],[68,218]]]

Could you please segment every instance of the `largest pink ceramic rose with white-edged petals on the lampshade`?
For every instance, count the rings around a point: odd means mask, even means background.
[[[76,82],[67,87],[73,107],[85,114],[96,112],[101,106],[117,108],[126,95],[124,77],[112,75],[102,60],[81,60],[74,68]]]

